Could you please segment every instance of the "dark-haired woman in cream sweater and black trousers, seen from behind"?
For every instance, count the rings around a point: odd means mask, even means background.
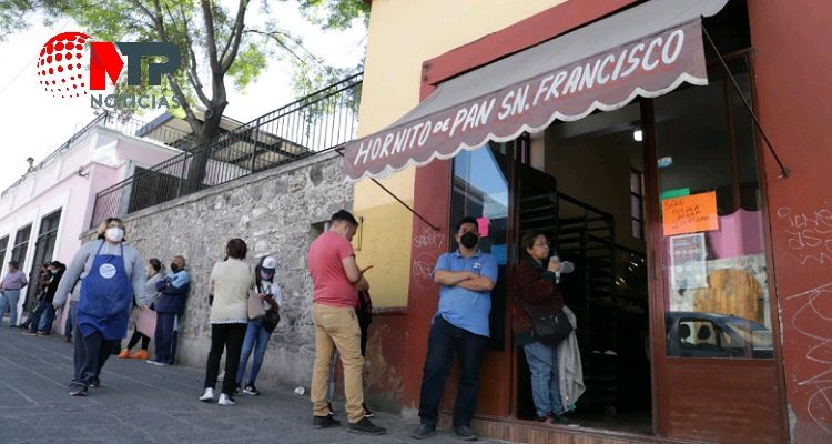
[[[248,324],[250,289],[254,271],[245,263],[248,246],[242,239],[232,239],[225,246],[226,259],[211,270],[211,351],[205,365],[205,384],[200,401],[214,400],[220,360],[225,349],[225,376],[217,404],[234,405],[234,375],[240,366],[240,352]]]

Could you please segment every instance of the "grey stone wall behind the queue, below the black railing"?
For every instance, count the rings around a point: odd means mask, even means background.
[[[326,153],[125,218],[126,239],[145,260],[159,258],[169,264],[173,254],[187,258],[193,282],[180,323],[179,362],[205,366],[211,337],[209,276],[225,255],[225,243],[241,238],[248,244],[248,263],[267,254],[277,258],[276,279],[283,291],[281,323],[257,381],[308,387],[315,352],[306,269],[312,225],[352,203],[353,186],[344,182],[342,158]]]

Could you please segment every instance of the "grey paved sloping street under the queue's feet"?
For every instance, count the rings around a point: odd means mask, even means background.
[[[314,430],[310,403],[287,387],[260,387],[221,407],[196,400],[204,373],[156,367],[135,360],[108,361],[102,386],[88,397],[68,395],[72,346],[63,337],[24,336],[0,329],[0,442],[11,443],[415,443],[417,425],[377,414],[384,436]],[[263,390],[266,389],[266,390]],[[336,408],[342,407],[336,405]],[[338,417],[343,421],[344,415]],[[458,443],[444,431],[428,443]]]

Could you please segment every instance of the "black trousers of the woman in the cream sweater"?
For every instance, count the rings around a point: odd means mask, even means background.
[[[211,352],[205,365],[205,389],[216,385],[220,374],[220,360],[225,349],[225,377],[223,379],[222,393],[234,394],[234,380],[240,366],[240,352],[245,339],[247,324],[211,324]]]

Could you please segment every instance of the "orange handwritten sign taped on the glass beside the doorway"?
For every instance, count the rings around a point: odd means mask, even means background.
[[[664,235],[719,230],[717,193],[686,195],[661,202]]]

